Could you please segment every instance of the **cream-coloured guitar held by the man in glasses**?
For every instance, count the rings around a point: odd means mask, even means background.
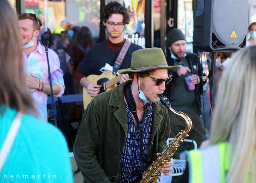
[[[100,93],[105,92],[107,90],[113,89],[116,84],[121,81],[122,75],[113,75],[111,71],[103,72],[101,75],[89,75],[86,77],[87,81],[92,82],[93,84],[101,85]],[[90,96],[87,93],[85,87],[83,87],[83,102],[84,102],[84,109],[87,108],[88,104],[94,97]]]

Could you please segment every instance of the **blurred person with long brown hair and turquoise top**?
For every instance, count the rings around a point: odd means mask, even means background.
[[[64,136],[51,124],[27,114],[36,108],[25,84],[17,21],[9,2],[1,0],[0,182],[71,183]]]

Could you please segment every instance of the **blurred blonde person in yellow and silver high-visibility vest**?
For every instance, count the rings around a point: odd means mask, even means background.
[[[239,50],[231,61],[222,77],[209,146],[189,152],[182,183],[188,177],[190,183],[256,182],[256,46]]]

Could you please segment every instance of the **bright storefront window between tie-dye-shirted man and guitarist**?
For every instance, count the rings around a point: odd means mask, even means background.
[[[82,26],[90,29],[94,39],[100,32],[100,0],[25,0],[26,13],[36,13],[42,29],[60,34],[71,25],[77,31]]]

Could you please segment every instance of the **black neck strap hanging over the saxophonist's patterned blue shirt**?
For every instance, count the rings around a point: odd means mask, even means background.
[[[144,114],[141,122],[139,121],[138,115],[137,115],[137,110],[136,110],[136,103],[134,101],[133,95],[132,95],[132,83],[130,85],[126,85],[124,87],[124,96],[126,97],[127,101],[127,106],[130,110],[130,112],[133,114],[136,123],[139,125],[139,134],[140,134],[140,169],[143,173],[144,168],[143,165],[145,163],[144,158],[143,158],[143,131],[144,131],[144,120],[145,116],[147,114],[146,110],[144,109]],[[147,110],[148,111],[148,110]],[[148,119],[148,115],[147,115]]]

